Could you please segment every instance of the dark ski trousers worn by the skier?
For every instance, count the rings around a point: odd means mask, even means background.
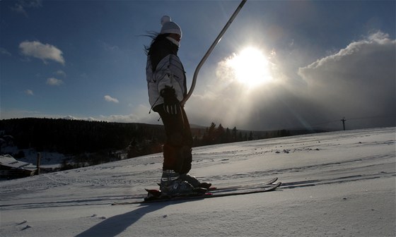
[[[178,114],[168,114],[159,104],[154,109],[163,121],[166,140],[163,145],[163,170],[187,174],[192,163],[192,134],[185,109]]]

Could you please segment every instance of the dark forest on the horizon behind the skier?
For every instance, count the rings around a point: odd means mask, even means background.
[[[192,126],[194,147],[227,142],[241,142],[308,133],[290,130],[246,131],[223,128],[216,123],[209,127]],[[1,146],[11,142],[19,150],[33,148],[37,152],[59,152],[75,157],[78,166],[100,164],[112,160],[139,157],[162,151],[165,142],[163,126],[146,123],[110,123],[69,119],[6,119],[0,121]],[[11,154],[24,157],[23,152]],[[64,164],[67,166],[67,164]]]

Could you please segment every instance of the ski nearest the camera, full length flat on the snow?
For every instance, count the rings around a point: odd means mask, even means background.
[[[171,202],[171,201],[185,201],[185,200],[199,200],[204,198],[215,198],[215,197],[227,197],[227,196],[235,196],[235,195],[248,195],[252,193],[265,193],[272,190],[276,190],[281,186],[281,182],[273,183],[271,185],[267,185],[262,188],[252,189],[252,190],[235,190],[231,192],[223,192],[223,193],[204,193],[204,194],[193,194],[193,195],[185,195],[178,197],[154,197],[149,200],[141,200],[141,201],[131,201],[131,202],[114,202],[112,205],[132,205],[132,204],[145,204],[145,203],[153,203],[153,202]]]

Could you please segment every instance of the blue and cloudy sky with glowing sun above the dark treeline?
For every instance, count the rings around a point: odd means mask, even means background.
[[[0,119],[161,124],[145,35],[168,15],[194,71],[240,1],[0,1]],[[197,76],[190,123],[245,130],[395,126],[395,1],[251,1]]]

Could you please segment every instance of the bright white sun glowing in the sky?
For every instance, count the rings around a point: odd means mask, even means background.
[[[270,62],[260,49],[246,47],[227,61],[235,80],[246,87],[255,87],[272,80]]]

